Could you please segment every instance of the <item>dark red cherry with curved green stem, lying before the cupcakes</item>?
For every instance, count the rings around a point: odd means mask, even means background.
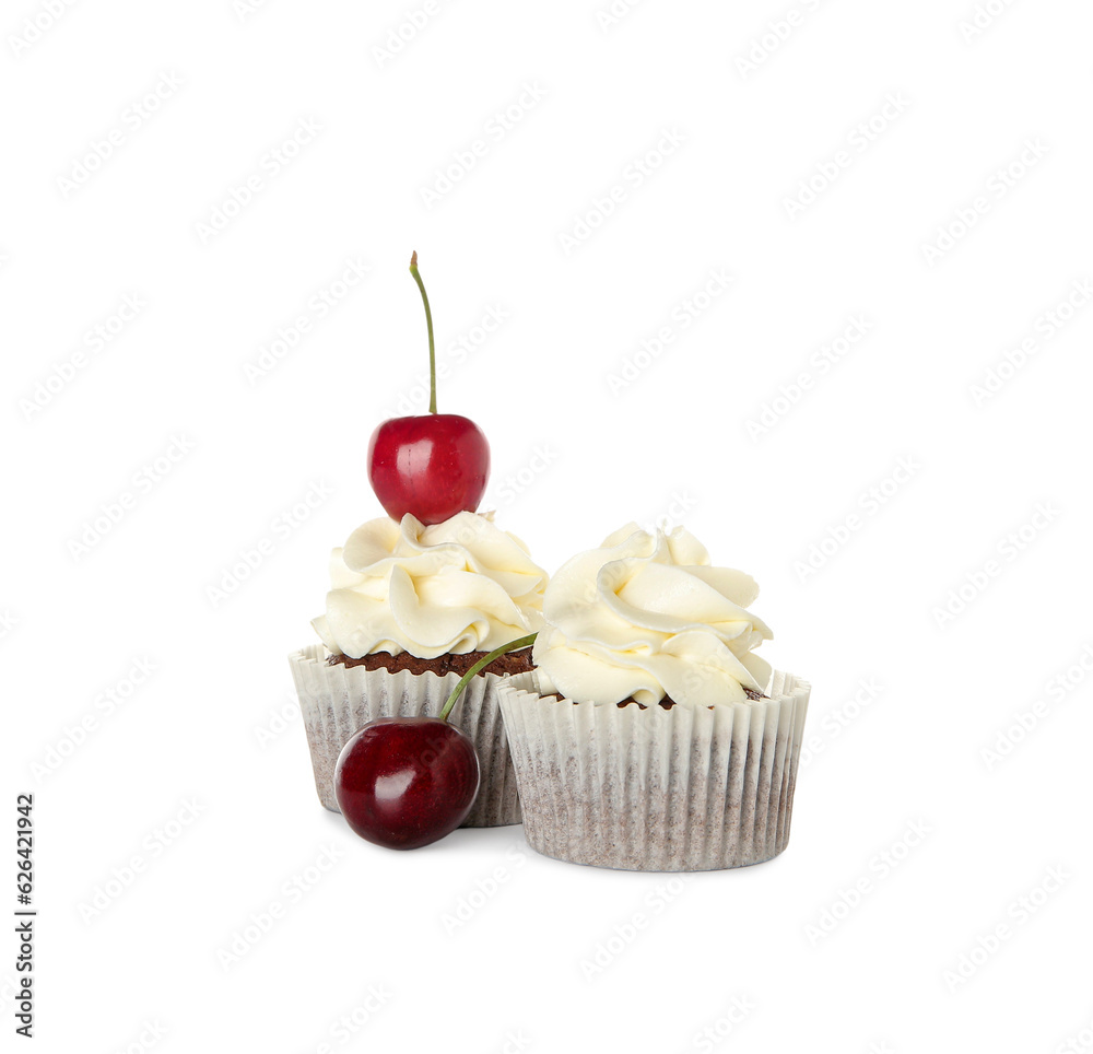
[[[386,848],[415,850],[467,819],[478,795],[478,754],[448,715],[472,677],[534,639],[534,633],[520,637],[479,659],[438,716],[379,717],[345,743],[334,765],[334,797],[361,838]]]

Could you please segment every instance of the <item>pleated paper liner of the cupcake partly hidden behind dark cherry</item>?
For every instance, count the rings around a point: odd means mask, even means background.
[[[459,683],[458,674],[411,674],[366,670],[363,666],[327,666],[321,644],[289,656],[299,708],[312,751],[315,789],[324,807],[341,811],[334,798],[334,764],[357,729],[376,717],[436,716]],[[482,772],[478,797],[463,827],[502,827],[520,822],[520,800],[508,742],[497,705],[505,678],[483,674],[471,679],[448,719],[474,743]]]

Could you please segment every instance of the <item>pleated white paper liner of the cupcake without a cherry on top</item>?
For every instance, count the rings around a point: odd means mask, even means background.
[[[498,689],[528,844],[638,871],[759,864],[789,840],[810,686],[776,672],[771,699],[670,710]]]

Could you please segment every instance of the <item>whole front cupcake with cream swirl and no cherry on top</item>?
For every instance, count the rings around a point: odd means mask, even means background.
[[[563,565],[536,669],[500,687],[532,848],[692,871],[786,847],[810,686],[755,654],[757,593],[682,528],[630,524]]]

